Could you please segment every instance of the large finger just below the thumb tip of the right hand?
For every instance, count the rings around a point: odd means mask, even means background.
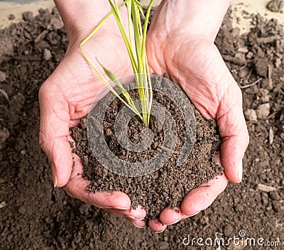
[[[193,216],[207,209],[217,196],[225,190],[227,184],[228,179],[226,175],[219,175],[200,188],[195,188],[182,201],[182,213],[187,216]]]

